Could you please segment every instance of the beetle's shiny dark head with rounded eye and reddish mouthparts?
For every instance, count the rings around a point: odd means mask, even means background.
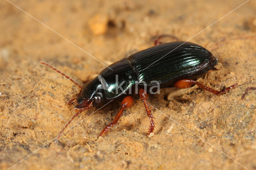
[[[76,98],[76,109],[82,109],[92,104],[101,104],[105,97],[104,90],[99,88],[100,85],[101,83],[97,78],[86,83]]]

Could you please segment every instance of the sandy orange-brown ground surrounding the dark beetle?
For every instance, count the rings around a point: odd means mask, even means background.
[[[245,0],[12,2],[63,37],[0,2],[0,169],[30,154],[12,169],[256,169],[256,91],[241,100],[246,87],[256,87],[256,38],[237,39],[256,35],[256,1],[194,38]],[[85,111],[59,143],[50,142],[74,114],[66,103],[79,89],[39,61],[82,84],[105,67],[102,63],[151,47],[158,34],[192,38],[216,55],[222,65],[202,77],[205,85],[238,86],[218,96],[197,89],[171,101],[166,95],[174,89],[162,89],[149,99],[160,110],[152,109],[156,130],[150,137],[144,105],[136,97],[107,136],[98,135],[121,101],[90,117],[94,108]]]

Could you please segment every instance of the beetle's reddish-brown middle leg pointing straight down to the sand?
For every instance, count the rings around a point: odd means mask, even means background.
[[[150,107],[149,107],[149,103],[148,103],[148,95],[147,93],[144,91],[144,89],[140,89],[139,90],[139,93],[140,93],[140,98],[143,100],[144,102],[144,106],[146,108],[146,112],[148,114],[148,117],[150,119],[150,125],[149,125],[149,128],[148,128],[148,132],[151,133],[154,131],[154,128],[155,128],[155,125],[154,125],[154,120],[153,120],[153,115],[152,115],[152,112],[150,110]]]

